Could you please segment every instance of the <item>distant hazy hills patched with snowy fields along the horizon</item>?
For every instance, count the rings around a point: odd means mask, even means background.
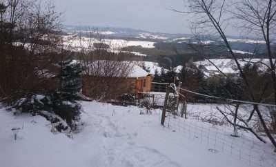
[[[154,42],[153,48],[144,48],[139,46],[126,46],[124,50],[131,52],[141,52],[152,56],[175,56],[186,54],[197,54],[191,46],[204,46],[205,55],[209,58],[228,58],[228,50],[224,43],[218,37],[205,35],[201,39],[196,39],[188,34],[168,34],[162,32],[148,32],[145,30],[136,30],[133,28],[115,28],[115,27],[96,27],[96,26],[63,26],[63,32],[69,34],[82,35],[84,37],[103,39],[124,39],[127,41],[150,41]],[[97,32],[97,33],[95,33]],[[92,35],[92,36],[91,36]],[[248,39],[245,37],[229,36],[228,40],[233,50],[239,56],[266,58],[266,46],[262,39]],[[273,44],[275,46],[275,44]],[[273,47],[276,48],[276,47]],[[155,59],[155,58],[154,58]],[[181,63],[181,62],[179,62]],[[178,64],[178,63],[176,63]]]

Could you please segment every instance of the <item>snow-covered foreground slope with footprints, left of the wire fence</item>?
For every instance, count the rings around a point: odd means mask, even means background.
[[[179,125],[173,126],[177,123],[173,118],[166,121],[166,127],[168,123],[171,125],[169,128],[160,126],[160,110],[141,115],[145,111],[134,106],[97,102],[82,102],[82,105],[83,127],[72,139],[50,132],[50,124],[43,117],[13,116],[0,109],[0,166],[259,166],[217,151],[212,145],[206,146],[193,135],[187,137],[188,132],[178,130]],[[184,122],[178,117],[177,120]],[[186,122],[192,124],[193,120]],[[206,123],[200,126],[216,129]],[[17,127],[21,130],[14,141],[11,129]],[[224,131],[224,137],[235,142],[228,130]]]

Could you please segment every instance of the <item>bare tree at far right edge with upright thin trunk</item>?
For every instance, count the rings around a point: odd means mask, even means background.
[[[240,20],[242,28],[255,32],[255,35],[262,37],[266,42],[266,54],[269,63],[266,67],[270,72],[274,88],[274,101],[276,104],[276,73],[275,54],[272,50],[272,36],[276,26],[276,1],[274,0],[242,0],[235,5],[235,18]],[[275,36],[274,36],[275,37]]]

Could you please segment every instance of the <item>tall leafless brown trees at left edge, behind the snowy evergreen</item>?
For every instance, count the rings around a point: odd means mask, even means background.
[[[0,97],[10,104],[47,90],[46,73],[61,50],[59,14],[50,3],[43,8],[36,1],[14,0],[4,4],[9,7],[1,27],[1,37],[5,38],[0,46]]]

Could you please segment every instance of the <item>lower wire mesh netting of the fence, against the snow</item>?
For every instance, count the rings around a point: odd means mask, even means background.
[[[262,143],[248,132],[239,131],[239,137],[233,137],[229,126],[206,124],[200,119],[184,119],[170,112],[166,115],[164,126],[188,139],[197,140],[211,153],[226,153],[250,166],[276,166],[273,146]]]

